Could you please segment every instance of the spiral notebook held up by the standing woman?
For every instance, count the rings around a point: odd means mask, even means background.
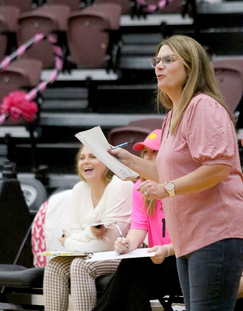
[[[116,174],[122,180],[137,180],[139,174],[129,169],[116,157],[112,156],[107,149],[110,148],[110,144],[105,138],[100,126],[91,128],[90,130],[79,132],[75,134],[80,142],[82,142],[86,148],[93,153],[101,162],[103,162],[114,174]]]

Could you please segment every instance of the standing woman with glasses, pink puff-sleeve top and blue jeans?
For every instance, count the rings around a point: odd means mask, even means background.
[[[187,311],[232,311],[243,271],[243,176],[234,120],[211,61],[194,39],[164,39],[152,66],[158,103],[170,109],[156,166],[110,151],[162,199]],[[150,179],[150,180],[148,180]]]

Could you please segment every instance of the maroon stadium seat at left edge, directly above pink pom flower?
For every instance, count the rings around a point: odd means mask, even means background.
[[[0,72],[0,103],[10,92],[27,92],[37,86],[40,83],[41,70],[42,63],[35,59],[19,59],[10,63]]]

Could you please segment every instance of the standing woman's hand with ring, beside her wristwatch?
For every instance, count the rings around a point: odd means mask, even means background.
[[[163,185],[160,183],[155,183],[152,180],[144,181],[139,185],[136,190],[140,191],[144,195],[144,197],[147,197],[147,199],[150,201],[154,199],[161,200],[168,196],[168,193],[166,193]]]

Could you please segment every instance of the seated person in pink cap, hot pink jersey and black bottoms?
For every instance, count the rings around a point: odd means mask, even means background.
[[[133,146],[142,151],[142,158],[155,163],[160,148],[161,130]],[[156,251],[154,257],[122,259],[107,285],[105,293],[92,311],[151,311],[150,300],[165,295],[182,295],[176,269],[176,260],[168,235],[160,200],[148,201],[136,191],[141,180],[133,187],[132,224],[126,238],[114,244],[116,253],[127,253],[138,248],[148,233],[148,247]],[[126,248],[128,244],[129,249]]]

